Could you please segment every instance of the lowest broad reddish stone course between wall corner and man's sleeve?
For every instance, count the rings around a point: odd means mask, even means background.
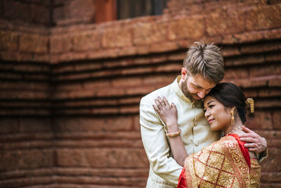
[[[58,149],[57,157],[58,166],[64,167],[144,168],[148,165],[143,149]]]

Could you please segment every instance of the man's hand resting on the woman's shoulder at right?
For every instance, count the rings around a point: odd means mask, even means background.
[[[242,126],[242,129],[247,133],[241,134],[240,140],[242,142],[247,142],[244,146],[247,147],[249,151],[253,151],[255,153],[266,151],[267,144],[265,138],[259,136],[256,132],[249,130],[245,126]]]

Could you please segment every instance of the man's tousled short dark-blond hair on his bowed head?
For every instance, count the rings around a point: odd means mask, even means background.
[[[221,49],[214,44],[195,42],[186,53],[183,67],[188,75],[200,74],[211,83],[218,84],[223,80],[224,65]]]

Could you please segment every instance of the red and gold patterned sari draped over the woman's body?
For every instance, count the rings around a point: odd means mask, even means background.
[[[260,187],[261,166],[237,134],[229,134],[185,158],[178,188]]]

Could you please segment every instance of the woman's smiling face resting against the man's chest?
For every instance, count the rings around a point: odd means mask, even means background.
[[[223,106],[213,96],[206,96],[204,99],[205,118],[211,130],[226,130],[230,126],[231,109]]]

